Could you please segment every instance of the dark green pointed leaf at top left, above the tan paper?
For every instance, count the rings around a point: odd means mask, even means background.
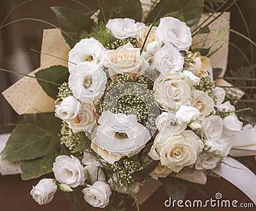
[[[93,26],[93,20],[81,12],[61,6],[52,6],[51,9],[56,14],[61,33],[70,47],[74,46],[81,31],[90,31]]]

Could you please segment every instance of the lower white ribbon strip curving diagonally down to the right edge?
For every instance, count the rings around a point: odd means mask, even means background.
[[[228,156],[211,171],[238,187],[256,205],[256,175],[241,162]]]

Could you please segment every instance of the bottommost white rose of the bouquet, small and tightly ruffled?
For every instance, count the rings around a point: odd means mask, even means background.
[[[84,200],[93,207],[104,208],[109,203],[111,189],[106,182],[97,181],[83,189]]]

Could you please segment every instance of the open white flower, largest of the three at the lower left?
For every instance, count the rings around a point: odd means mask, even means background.
[[[56,157],[52,171],[56,180],[68,184],[70,187],[77,187],[84,184],[84,171],[81,162],[70,155],[59,155]]]

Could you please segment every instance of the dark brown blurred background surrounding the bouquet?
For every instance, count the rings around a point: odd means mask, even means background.
[[[12,22],[13,20],[33,18],[45,20],[58,26],[58,22],[54,13],[51,11],[50,6],[65,6],[73,8],[81,12],[93,13],[98,10],[99,2],[95,0],[79,0],[83,4],[88,6],[82,6],[76,0],[34,0],[25,3],[23,0],[0,0],[0,24],[8,15],[9,12],[20,3],[24,3],[19,8],[15,9],[4,24]],[[171,1],[171,0],[170,0]],[[232,3],[233,0],[228,1],[227,4]],[[218,5],[225,2],[225,0],[205,0],[205,12],[211,12]],[[223,7],[225,8],[225,7]],[[237,5],[234,4],[228,11],[231,12],[230,27],[239,33],[251,37],[256,41],[256,27],[255,27],[255,12],[256,1],[255,0],[238,0]],[[241,15],[242,14],[242,15]],[[246,22],[246,24],[244,23]],[[246,26],[247,25],[247,26]],[[248,30],[250,35],[248,35]],[[40,51],[42,44],[42,32],[43,29],[52,28],[42,22],[36,22],[32,20],[22,20],[10,24],[0,30],[0,68],[13,70],[16,72],[22,72],[28,74],[32,70],[35,70],[40,65],[40,54],[33,52],[29,49],[35,49]],[[255,53],[253,53],[253,51]],[[241,38],[241,36],[230,32],[230,48],[228,56],[227,76],[229,77],[247,77],[255,79],[255,61],[256,61],[256,48],[250,45],[248,40]],[[18,81],[21,77],[15,74],[9,74],[0,71],[0,93],[6,88],[11,86],[15,81]],[[243,88],[246,91],[246,95],[237,102],[236,107],[252,107],[255,108],[251,113],[241,113],[240,118],[244,122],[255,122],[255,110],[256,110],[256,95],[254,81],[248,80],[229,80],[236,86],[251,86],[251,89]],[[253,87],[254,88],[253,88]],[[0,134],[4,132],[10,132],[13,129],[15,123],[19,123],[22,120],[22,116],[17,115],[12,107],[4,100],[0,95]],[[253,158],[254,159],[254,158]],[[246,161],[245,161],[246,162]],[[249,164],[250,166],[250,164]],[[252,167],[252,166],[251,166]],[[253,169],[255,171],[255,169]],[[216,193],[216,178],[210,178],[209,182],[205,186],[205,189],[209,189],[209,194]],[[220,179],[218,179],[218,182]],[[52,205],[46,205],[46,207],[39,207],[30,198],[29,191],[32,184],[36,184],[38,180],[31,180],[28,182],[20,181],[20,176],[5,176],[0,178],[0,210],[1,205],[5,206],[3,210],[59,210],[60,206],[63,210],[68,210],[68,203],[63,199],[62,193],[57,194],[56,201]],[[222,193],[229,198],[242,198],[244,201],[250,202],[250,199],[246,198],[242,192],[240,192],[233,185],[228,184],[224,180]],[[19,191],[15,192],[15,185],[19,185]],[[27,190],[28,189],[28,190]],[[21,191],[22,190],[22,191]],[[212,192],[211,192],[212,191]],[[20,199],[21,194],[26,192]],[[191,189],[189,192],[190,198],[202,197],[202,193],[196,193],[196,190]],[[161,198],[161,196],[163,196]],[[213,196],[213,195],[212,195]],[[12,198],[15,199],[12,199]],[[163,201],[168,197],[162,189],[159,189],[154,194],[154,200],[148,200],[143,205],[141,210],[154,210],[155,208],[163,208]],[[150,198],[152,199],[152,198]],[[157,207],[157,203],[154,201],[160,201],[161,207]],[[12,203],[14,201],[15,203]],[[60,205],[61,202],[61,205]],[[127,201],[127,210],[134,210],[131,208],[132,202]],[[48,207],[47,207],[48,206]]]

